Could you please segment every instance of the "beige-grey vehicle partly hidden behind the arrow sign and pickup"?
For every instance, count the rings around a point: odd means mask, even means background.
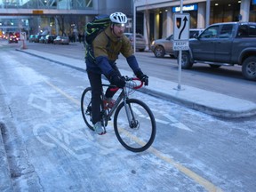
[[[190,28],[189,38],[198,36],[204,29],[202,28]],[[169,54],[171,57],[177,58],[179,52],[175,52],[172,49],[173,35],[167,38],[157,39],[151,44],[151,51],[154,52],[156,58],[163,58],[164,55]]]

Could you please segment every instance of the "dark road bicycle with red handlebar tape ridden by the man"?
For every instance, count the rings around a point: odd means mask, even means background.
[[[156,137],[156,120],[150,108],[138,99],[130,99],[129,95],[142,87],[143,82],[139,78],[125,76],[126,85],[118,95],[116,103],[112,108],[106,108],[104,105],[103,87],[119,89],[115,85],[102,84],[101,92],[101,124],[106,130],[108,121],[114,115],[114,131],[117,140],[124,148],[132,152],[141,152],[147,150]],[[137,84],[136,84],[137,81]],[[138,85],[138,81],[140,84]],[[129,82],[129,83],[128,83]],[[81,98],[81,109],[85,124],[93,130],[92,124],[92,88],[87,87]]]

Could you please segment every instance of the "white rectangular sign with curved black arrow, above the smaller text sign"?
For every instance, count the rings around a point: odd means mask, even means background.
[[[190,16],[188,13],[174,13],[173,40],[184,41],[189,39]]]

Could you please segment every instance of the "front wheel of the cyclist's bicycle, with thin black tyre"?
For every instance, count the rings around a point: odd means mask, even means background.
[[[126,105],[122,102],[116,108],[114,129],[124,148],[141,152],[148,149],[155,140],[156,120],[144,102],[129,99],[126,100]]]

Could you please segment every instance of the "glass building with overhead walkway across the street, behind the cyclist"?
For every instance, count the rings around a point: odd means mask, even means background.
[[[84,33],[95,15],[124,12],[132,17],[127,0],[0,0],[0,35],[26,32],[68,36]]]

